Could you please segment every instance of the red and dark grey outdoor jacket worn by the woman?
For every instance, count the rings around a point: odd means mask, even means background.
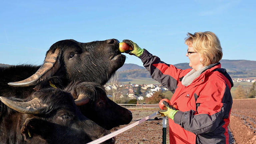
[[[147,50],[139,58],[151,77],[174,93],[170,102],[179,111],[169,119],[170,144],[228,144],[233,82],[220,63],[184,86],[181,80],[192,69],[166,64]]]

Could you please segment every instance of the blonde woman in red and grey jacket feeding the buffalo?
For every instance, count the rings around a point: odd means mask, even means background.
[[[174,93],[170,102],[178,110],[167,102],[167,110],[159,109],[169,118],[170,144],[228,144],[233,82],[219,63],[220,41],[212,32],[187,36],[186,56],[192,69],[185,70],[162,62],[130,40],[123,42],[133,47],[126,53],[139,57],[151,77]]]

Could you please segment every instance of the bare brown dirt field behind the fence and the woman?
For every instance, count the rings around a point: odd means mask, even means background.
[[[158,111],[158,109],[130,110],[133,113],[133,120],[131,123]],[[160,120],[154,120],[155,117]],[[125,126],[127,125],[113,128],[111,131],[113,132]],[[116,144],[161,144],[162,127],[161,116],[154,116],[117,135]],[[256,99],[233,100],[229,129],[234,137],[234,139],[231,137],[231,144],[256,144]],[[168,120],[166,139],[166,144],[169,144]]]

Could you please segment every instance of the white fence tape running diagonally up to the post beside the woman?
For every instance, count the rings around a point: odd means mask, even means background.
[[[127,131],[127,130],[135,127],[136,125],[138,125],[138,124],[148,120],[149,118],[151,118],[151,117],[153,117],[153,116],[155,116],[157,114],[158,114],[158,112],[155,112],[155,113],[153,113],[153,114],[151,114],[151,115],[149,115],[147,117],[144,117],[144,118],[140,119],[139,121],[136,121],[136,122],[134,122],[134,123],[132,123],[132,124],[126,126],[126,127],[123,127],[123,128],[121,128],[121,129],[119,129],[117,131],[114,131],[114,132],[112,132],[112,133],[110,133],[108,135],[105,135],[105,136],[103,136],[103,137],[101,137],[99,139],[96,139],[96,140],[94,140],[92,142],[89,142],[87,144],[100,144],[100,143],[102,143],[102,142],[104,142],[104,141],[106,141],[106,140],[108,140],[108,139],[110,139],[110,138],[112,138],[112,137],[114,137],[114,136],[124,132],[124,131]]]

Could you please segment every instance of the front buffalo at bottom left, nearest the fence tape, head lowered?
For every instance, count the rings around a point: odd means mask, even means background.
[[[61,89],[0,100],[0,144],[84,144],[110,133],[82,115],[70,93]]]

